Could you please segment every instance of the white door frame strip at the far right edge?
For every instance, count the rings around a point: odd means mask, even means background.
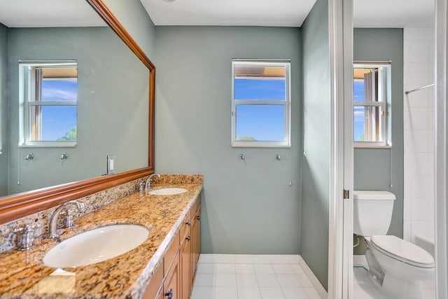
[[[447,0],[435,1],[435,288],[448,298]]]

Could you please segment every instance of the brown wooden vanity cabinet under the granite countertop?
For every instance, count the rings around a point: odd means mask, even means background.
[[[143,299],[190,299],[201,249],[200,214],[201,198],[197,197]]]

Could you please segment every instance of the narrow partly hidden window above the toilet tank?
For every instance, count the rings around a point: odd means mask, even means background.
[[[388,146],[389,62],[353,64],[353,141],[355,146]]]

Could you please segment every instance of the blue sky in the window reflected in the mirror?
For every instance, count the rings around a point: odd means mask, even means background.
[[[42,101],[73,101],[78,98],[76,80],[44,80]],[[42,107],[42,140],[51,141],[76,127],[76,106]]]

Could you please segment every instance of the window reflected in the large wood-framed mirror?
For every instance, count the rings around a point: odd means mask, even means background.
[[[76,61],[19,65],[19,146],[76,146]]]

